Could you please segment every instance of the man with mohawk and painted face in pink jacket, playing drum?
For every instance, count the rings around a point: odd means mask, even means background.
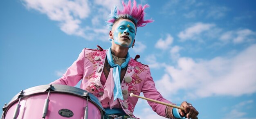
[[[94,94],[106,110],[105,119],[136,119],[133,115],[134,107],[138,101],[130,97],[133,93],[144,93],[145,97],[165,103],[156,90],[151,77],[150,69],[130,58],[129,48],[135,44],[137,27],[143,27],[153,20],[144,20],[144,7],[137,7],[136,1],[128,4],[123,2],[122,11],[115,7],[109,16],[109,38],[112,45],[109,49],[83,49],[79,58],[67,69],[63,77],[51,84],[76,85],[81,79],[80,88]],[[190,103],[182,102],[185,111],[167,107],[162,104],[148,102],[158,115],[167,118],[196,118],[198,111]],[[181,117],[182,116],[182,117]]]

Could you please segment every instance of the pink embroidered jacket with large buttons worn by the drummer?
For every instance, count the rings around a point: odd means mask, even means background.
[[[171,103],[164,99],[155,88],[149,67],[132,58],[128,63],[124,80],[121,82],[124,101],[117,99],[113,102],[114,81],[112,68],[109,76],[106,77],[111,80],[102,78],[104,76],[102,72],[106,54],[107,50],[83,49],[77,60],[67,69],[67,72],[51,84],[75,86],[82,79],[80,88],[94,94],[101,101],[103,108],[121,106],[126,114],[131,117],[135,117],[133,111],[138,101],[137,97],[129,96],[131,92],[137,95],[143,92],[144,96],[150,99]],[[158,115],[166,117],[166,106],[150,101],[148,101],[148,104]]]

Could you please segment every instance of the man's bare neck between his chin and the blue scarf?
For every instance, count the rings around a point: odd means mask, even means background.
[[[114,54],[115,56],[117,56],[119,58],[126,58],[128,49],[129,48],[122,47],[120,45],[112,45],[112,47],[111,47],[112,54]]]

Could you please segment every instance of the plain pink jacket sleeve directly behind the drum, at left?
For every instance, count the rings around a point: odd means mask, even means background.
[[[61,84],[75,86],[82,78],[84,72],[84,56],[85,49],[79,54],[79,57],[74,63],[67,69],[66,73],[60,79],[50,84]]]

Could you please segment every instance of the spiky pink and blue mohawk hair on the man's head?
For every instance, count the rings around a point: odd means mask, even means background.
[[[148,4],[144,5],[143,7],[141,5],[137,7],[137,2],[135,0],[133,1],[133,6],[130,0],[128,1],[127,5],[124,3],[124,1],[122,1],[122,4],[124,7],[123,11],[117,9],[115,6],[108,17],[107,22],[110,29],[112,29],[114,23],[119,19],[129,19],[135,24],[136,27],[144,27],[147,23],[153,22],[153,20],[144,20],[144,9],[149,7]]]

